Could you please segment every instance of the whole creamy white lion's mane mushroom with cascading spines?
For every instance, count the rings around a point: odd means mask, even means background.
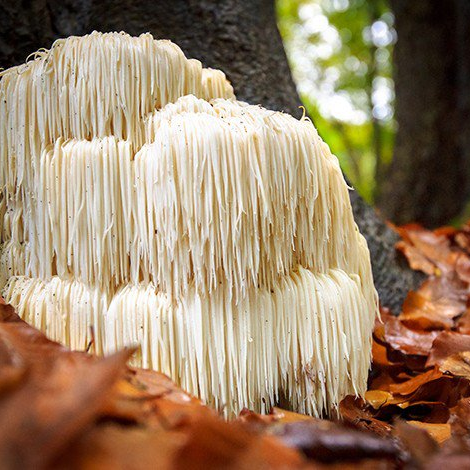
[[[2,72],[0,122],[3,295],[26,321],[140,344],[228,415],[364,391],[369,252],[307,118],[236,101],[169,41],[94,32]]]

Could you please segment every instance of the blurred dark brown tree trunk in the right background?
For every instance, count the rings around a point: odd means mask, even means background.
[[[470,189],[470,2],[391,6],[398,134],[379,205],[396,223],[443,225]]]

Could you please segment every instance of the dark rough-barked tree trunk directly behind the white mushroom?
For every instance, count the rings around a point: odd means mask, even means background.
[[[0,5],[0,66],[24,61],[58,37],[93,31],[150,31],[188,57],[222,69],[239,99],[299,115],[300,100],[279,36],[272,0],[32,0]],[[3,10],[3,11],[2,11]],[[381,301],[397,311],[419,276],[398,259],[396,235],[358,195],[356,220],[371,250]]]

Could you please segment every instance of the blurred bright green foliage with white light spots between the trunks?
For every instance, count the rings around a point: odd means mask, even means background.
[[[386,0],[277,0],[278,22],[301,99],[350,181],[373,202],[393,151]]]

